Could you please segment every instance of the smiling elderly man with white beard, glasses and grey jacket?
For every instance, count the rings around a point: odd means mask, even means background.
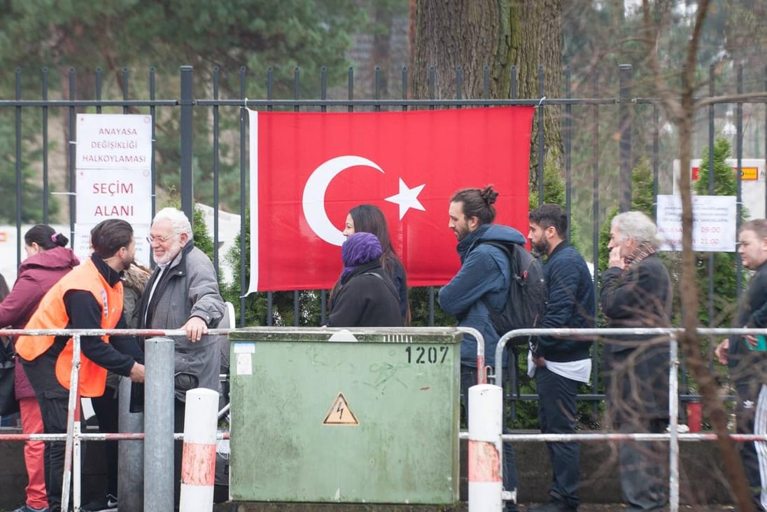
[[[224,316],[216,271],[209,257],[194,246],[192,225],[176,208],[163,208],[152,221],[150,236],[154,270],[141,297],[137,314],[141,329],[184,329],[176,336],[176,400],[174,431],[183,431],[186,391],[219,391],[221,353],[216,328]],[[182,445],[176,441],[175,504],[179,503]]]

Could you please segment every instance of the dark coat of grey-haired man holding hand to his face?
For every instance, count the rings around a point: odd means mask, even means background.
[[[600,304],[610,327],[668,327],[671,278],[657,255],[647,256],[624,276],[602,274]],[[614,337],[604,344],[607,402],[617,424],[668,418],[669,344],[653,335]]]

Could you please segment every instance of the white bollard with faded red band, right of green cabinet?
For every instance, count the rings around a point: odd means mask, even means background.
[[[503,390],[469,388],[469,512],[501,512]]]

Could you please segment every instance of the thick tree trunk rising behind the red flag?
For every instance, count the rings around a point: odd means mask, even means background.
[[[414,97],[509,98],[512,66],[516,66],[515,97],[561,96],[561,0],[413,2]],[[461,68],[460,83],[457,68]],[[561,154],[559,109],[547,107],[544,112],[545,157],[551,150]],[[531,187],[537,187],[538,116],[532,135],[530,181]]]

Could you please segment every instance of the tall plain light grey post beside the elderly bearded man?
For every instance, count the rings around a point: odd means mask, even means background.
[[[147,339],[144,400],[144,510],[173,510],[173,352],[170,338]]]

